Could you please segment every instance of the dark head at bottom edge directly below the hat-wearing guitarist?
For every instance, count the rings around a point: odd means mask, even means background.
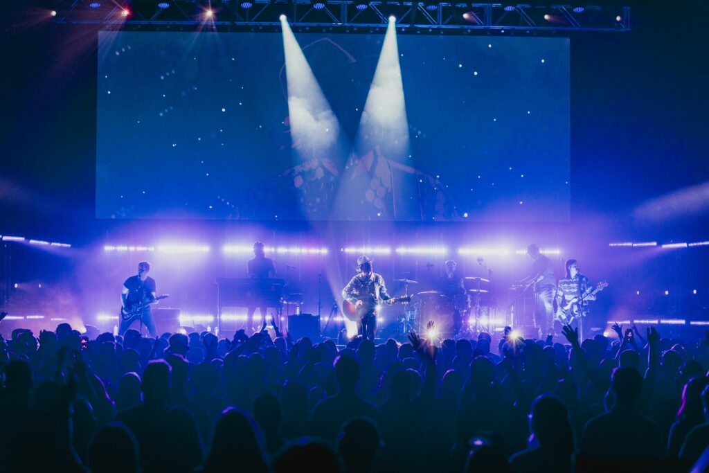
[[[348,473],[371,472],[380,447],[379,430],[367,418],[348,421],[337,437],[337,452]]]

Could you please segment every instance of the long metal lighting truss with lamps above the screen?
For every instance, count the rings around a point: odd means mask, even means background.
[[[593,0],[592,0],[593,1]],[[162,5],[159,6],[159,5]],[[167,5],[167,6],[166,6]],[[629,31],[630,7],[604,4],[470,4],[447,1],[368,0],[113,0],[56,1],[55,23],[108,28],[243,30],[280,28],[279,17],[304,27],[384,28],[389,16],[398,28],[443,33],[488,30],[510,33]],[[128,14],[125,14],[125,12]],[[206,11],[212,11],[207,16]]]

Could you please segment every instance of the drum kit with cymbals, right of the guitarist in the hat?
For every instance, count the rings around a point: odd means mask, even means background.
[[[442,338],[470,338],[481,332],[490,333],[491,299],[490,279],[466,277],[465,294],[448,296],[440,291],[420,291],[411,294],[411,302],[404,305],[403,314],[398,318],[401,335],[423,332],[429,321],[434,321]],[[413,279],[394,279],[404,286],[404,294],[409,294],[409,286],[418,284]]]

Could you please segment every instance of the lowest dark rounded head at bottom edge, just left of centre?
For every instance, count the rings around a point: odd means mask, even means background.
[[[273,473],[339,473],[340,459],[330,445],[312,438],[301,438],[286,445],[273,461]]]

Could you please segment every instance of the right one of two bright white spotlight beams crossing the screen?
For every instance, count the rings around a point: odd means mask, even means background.
[[[369,150],[377,144],[376,140],[385,137],[391,157],[408,152],[408,119],[393,18],[389,18],[357,133],[359,149]],[[369,140],[374,141],[368,143]]]

